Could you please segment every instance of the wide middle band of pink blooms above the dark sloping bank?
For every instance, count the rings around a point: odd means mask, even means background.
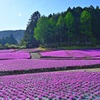
[[[12,59],[0,60],[0,71],[29,70],[42,68],[66,68],[99,65],[100,60],[40,60],[40,59]]]

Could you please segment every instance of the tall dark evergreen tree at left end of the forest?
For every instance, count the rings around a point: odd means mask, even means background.
[[[36,27],[37,21],[40,18],[40,13],[38,11],[34,12],[29,19],[25,35],[23,40],[25,41],[24,43],[26,44],[27,48],[32,48],[32,47],[37,47],[38,42],[36,39],[33,37],[34,35],[34,28]]]

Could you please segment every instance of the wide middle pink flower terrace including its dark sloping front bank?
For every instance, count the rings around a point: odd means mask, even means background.
[[[99,67],[100,60],[0,60],[0,75]]]

